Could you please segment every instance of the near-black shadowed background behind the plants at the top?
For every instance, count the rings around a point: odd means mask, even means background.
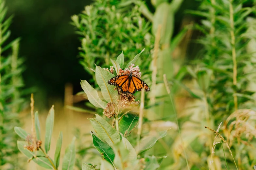
[[[193,1],[193,2],[192,2]],[[42,105],[47,99],[64,96],[64,85],[70,82],[74,93],[81,91],[80,79],[88,79],[79,64],[80,42],[70,17],[80,13],[88,0],[7,0],[8,16],[14,14],[10,26],[11,40],[21,37],[19,55],[25,58],[25,88],[34,87]],[[150,4],[150,3],[148,3]],[[184,0],[176,14],[175,34],[186,9],[196,9],[194,0]],[[151,7],[153,10],[153,8]],[[175,35],[174,34],[174,35]]]

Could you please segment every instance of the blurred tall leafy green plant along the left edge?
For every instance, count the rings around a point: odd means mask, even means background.
[[[0,0],[0,169],[18,169],[18,136],[13,128],[20,123],[23,60],[18,58],[19,38],[9,39],[12,16],[5,19],[6,14],[5,1]]]

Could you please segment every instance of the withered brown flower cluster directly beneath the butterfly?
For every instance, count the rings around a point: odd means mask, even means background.
[[[131,104],[139,105],[139,101],[135,101],[136,96],[130,93],[123,93],[119,87],[116,87],[115,90],[118,92],[118,106],[125,108]]]

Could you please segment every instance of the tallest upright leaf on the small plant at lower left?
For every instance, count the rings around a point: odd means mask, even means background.
[[[44,148],[46,153],[48,153],[48,151],[50,150],[53,125],[54,125],[54,106],[52,106],[52,108],[49,110],[49,114],[46,118],[45,138],[44,138],[45,140]]]

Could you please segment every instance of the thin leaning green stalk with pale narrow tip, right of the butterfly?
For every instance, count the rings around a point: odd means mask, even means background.
[[[173,112],[175,114],[178,130],[179,130],[179,135],[180,135],[180,140],[181,140],[184,156],[185,156],[186,163],[187,163],[187,168],[188,168],[188,170],[190,170],[189,165],[188,165],[187,154],[186,154],[186,151],[185,151],[185,148],[184,148],[183,140],[182,140],[182,137],[181,137],[181,132],[180,132],[180,129],[179,129],[179,122],[178,122],[178,118],[177,118],[177,113],[176,113],[176,109],[175,109],[175,106],[174,106],[174,103],[173,103],[173,100],[172,100],[171,91],[169,89],[169,85],[168,85],[168,81],[167,81],[167,78],[166,78],[166,74],[163,75],[163,81],[164,81],[164,85],[165,85],[166,91],[167,91],[167,93],[168,93],[168,95],[170,97],[170,100],[171,100]]]

